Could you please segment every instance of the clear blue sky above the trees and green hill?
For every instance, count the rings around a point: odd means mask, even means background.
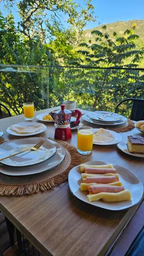
[[[84,0],[74,0],[74,2],[79,3],[81,7],[85,6]],[[94,6],[97,22],[87,24],[85,29],[116,21],[144,19],[144,0],[92,0],[91,3]],[[0,4],[1,11],[3,11],[3,7],[2,1]],[[16,7],[14,7],[13,14],[17,22],[19,18],[15,9]],[[5,10],[3,13],[6,14],[7,11]]]

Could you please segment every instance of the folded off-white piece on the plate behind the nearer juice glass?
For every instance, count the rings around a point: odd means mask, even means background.
[[[93,142],[109,143],[114,140],[114,136],[106,129],[100,128],[97,133],[93,135]]]

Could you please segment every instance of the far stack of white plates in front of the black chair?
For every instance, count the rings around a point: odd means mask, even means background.
[[[106,111],[89,112],[82,116],[84,121],[99,125],[119,125],[127,122],[127,118],[116,113]],[[108,116],[106,116],[108,115]],[[104,117],[105,116],[105,117]],[[101,120],[103,118],[103,120]]]

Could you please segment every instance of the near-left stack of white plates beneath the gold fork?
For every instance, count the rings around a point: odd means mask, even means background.
[[[35,137],[5,142],[0,146],[0,157],[4,158],[25,150],[25,148],[31,148],[42,139]],[[53,140],[44,140],[37,151],[26,151],[0,160],[0,172],[12,176],[32,175],[59,165],[65,157],[64,147]]]

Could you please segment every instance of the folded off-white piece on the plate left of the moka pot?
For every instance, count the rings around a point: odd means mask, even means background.
[[[18,134],[31,134],[31,133],[36,133],[40,129],[42,129],[43,125],[41,123],[38,124],[33,124],[33,125],[28,125],[28,126],[16,126],[12,125],[11,130],[15,133]]]

